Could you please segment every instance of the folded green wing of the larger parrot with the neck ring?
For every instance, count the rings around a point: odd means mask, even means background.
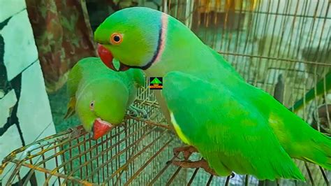
[[[261,180],[304,180],[265,117],[227,87],[171,72],[163,78],[162,94],[179,138],[220,176],[235,171]]]

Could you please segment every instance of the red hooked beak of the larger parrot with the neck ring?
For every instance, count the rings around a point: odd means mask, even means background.
[[[122,64],[121,62],[119,62],[119,69],[116,69],[112,63],[112,59],[114,59],[112,53],[101,44],[98,44],[98,55],[103,64],[105,64],[105,66],[107,66],[109,69],[112,69],[113,71],[127,71],[130,69],[128,66]]]

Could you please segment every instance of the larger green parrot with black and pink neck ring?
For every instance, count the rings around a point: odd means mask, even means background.
[[[163,77],[161,94],[170,122],[190,145],[179,151],[197,150],[204,158],[173,164],[260,180],[305,180],[291,157],[331,169],[330,137],[246,83],[174,17],[151,8],[125,8],[105,19],[94,40],[110,69],[142,69],[149,77]],[[112,59],[119,60],[119,69]]]

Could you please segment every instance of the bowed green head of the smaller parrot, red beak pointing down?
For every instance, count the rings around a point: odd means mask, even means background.
[[[89,83],[76,95],[76,113],[94,140],[122,123],[128,90],[119,80],[101,78]]]

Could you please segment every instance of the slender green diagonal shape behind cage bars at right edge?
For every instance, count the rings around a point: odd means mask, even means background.
[[[309,90],[304,97],[301,99],[295,101],[294,105],[289,108],[293,112],[296,112],[297,110],[300,110],[304,106],[304,103],[308,103],[312,99],[314,99],[316,96],[319,96],[323,94],[324,92],[328,92],[331,88],[331,72],[328,72],[324,78],[318,81],[316,83],[315,87],[313,87],[311,90]]]

